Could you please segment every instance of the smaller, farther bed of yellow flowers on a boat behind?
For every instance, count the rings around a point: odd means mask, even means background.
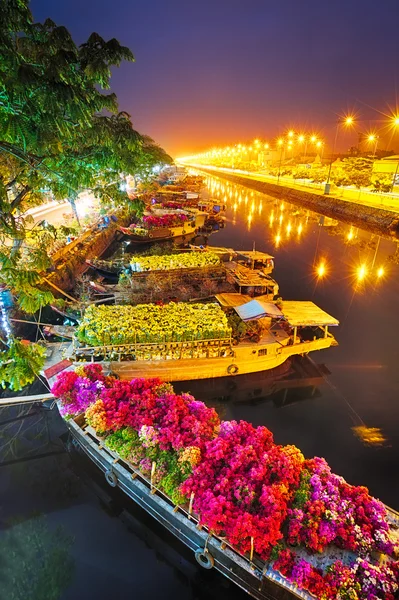
[[[141,256],[135,254],[130,263],[133,272],[169,271],[173,269],[193,269],[220,264],[220,258],[214,252],[182,252],[160,256]]]

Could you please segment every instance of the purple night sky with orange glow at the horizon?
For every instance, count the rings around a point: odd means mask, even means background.
[[[136,62],[115,70],[112,89],[173,156],[290,127],[331,142],[337,115],[355,110],[368,131],[398,106],[398,0],[33,0],[31,10],[77,43],[97,31],[129,46]],[[338,146],[356,138],[342,133]]]

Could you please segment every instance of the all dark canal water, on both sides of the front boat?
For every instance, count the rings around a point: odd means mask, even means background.
[[[278,443],[324,456],[399,509],[396,244],[220,179],[207,185],[227,206],[209,245],[255,243],[273,255],[283,300],[313,300],[338,318],[339,346],[273,376],[176,387],[223,418],[266,425]],[[247,598],[197,566],[76,449],[65,452],[64,433],[50,406],[0,413],[0,600]]]

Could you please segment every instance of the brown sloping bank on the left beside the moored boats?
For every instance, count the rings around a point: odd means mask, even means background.
[[[129,217],[122,215],[117,215],[117,219],[117,223],[111,222],[104,229],[99,229],[98,224],[93,225],[76,240],[56,252],[52,256],[54,270],[45,274],[46,287],[55,295],[57,294],[53,286],[63,291],[71,290],[76,277],[87,269],[86,259],[101,256],[113,242],[118,226],[125,226],[130,222]]]

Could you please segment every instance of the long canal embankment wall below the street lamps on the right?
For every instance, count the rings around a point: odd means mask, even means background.
[[[399,213],[349,200],[341,200],[334,196],[325,196],[316,192],[256,180],[253,176],[247,177],[243,174],[224,173],[211,168],[201,168],[201,171],[344,223],[349,223],[371,233],[399,240]]]

